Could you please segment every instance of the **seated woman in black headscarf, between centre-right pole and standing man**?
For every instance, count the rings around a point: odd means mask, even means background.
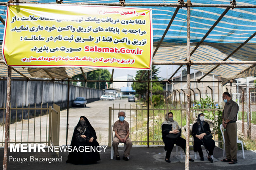
[[[213,155],[215,142],[212,138],[206,138],[206,136],[209,134],[211,134],[210,126],[204,121],[204,114],[200,113],[197,116],[197,122],[193,124],[192,128],[192,136],[194,137],[194,152],[198,152],[200,160],[204,161],[204,154],[201,148],[201,145],[204,145],[209,151],[209,155],[207,157],[208,160],[213,162],[211,156]]]

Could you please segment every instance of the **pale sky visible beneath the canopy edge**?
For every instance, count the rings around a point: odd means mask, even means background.
[[[158,76],[160,79],[166,79],[166,76],[168,75],[168,78],[171,77],[172,73],[178,69],[179,66],[176,65],[159,65],[159,74]],[[182,67],[184,69],[185,67]],[[112,69],[108,69],[110,74],[112,74]],[[181,70],[181,69],[180,69]],[[113,78],[117,77],[122,77],[122,76],[127,76],[127,74],[136,76],[136,71],[137,70],[132,70],[132,69],[115,69],[114,70],[114,76]],[[180,75],[178,72],[177,75]]]

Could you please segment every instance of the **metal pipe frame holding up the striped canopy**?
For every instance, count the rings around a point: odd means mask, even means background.
[[[161,65],[161,64],[166,64],[166,65],[180,65],[179,69],[183,66],[183,65],[186,65],[187,66],[187,81],[179,81],[179,82],[187,82],[187,92],[186,92],[186,96],[187,96],[187,110],[186,110],[186,125],[187,127],[189,126],[189,123],[190,123],[190,94],[191,94],[191,89],[190,89],[190,83],[191,82],[200,82],[200,80],[203,78],[201,77],[199,80],[197,81],[190,81],[190,67],[192,64],[199,64],[199,65],[202,65],[202,64],[215,64],[217,65],[216,67],[214,67],[214,69],[216,69],[218,66],[222,65],[222,64],[252,64],[250,67],[248,67],[247,69],[243,70],[242,72],[240,73],[243,73],[244,71],[247,71],[248,69],[254,67],[256,65],[256,61],[239,61],[239,62],[227,62],[225,60],[228,59],[228,57],[226,59],[224,59],[223,61],[217,61],[217,62],[192,62],[191,61],[191,55],[194,53],[194,51],[197,50],[197,48],[202,44],[202,42],[204,41],[204,39],[209,35],[209,33],[213,30],[213,28],[218,24],[218,22],[223,18],[223,16],[225,16],[225,14],[228,12],[228,10],[230,8],[234,9],[234,8],[256,8],[256,5],[220,5],[220,4],[199,4],[199,3],[191,3],[190,0],[187,0],[187,2],[184,4],[184,1],[179,1],[180,3],[175,3],[175,4],[164,4],[164,3],[160,3],[160,4],[156,4],[156,3],[147,3],[147,4],[142,4],[142,3],[126,3],[125,6],[130,6],[130,7],[177,7],[161,40],[159,41],[159,44],[156,46],[156,49],[153,53],[153,57],[154,55],[156,54],[158,48],[160,47],[162,41],[164,40],[164,37],[166,35],[166,33],[168,32],[168,29],[170,28],[176,14],[178,13],[178,10],[179,8],[181,7],[186,7],[187,8],[187,58],[184,62],[153,62],[154,65]],[[22,3],[22,2],[19,2],[19,3]],[[29,2],[26,2],[26,3],[29,3]],[[70,3],[70,4],[78,4],[78,5],[105,5],[105,6],[122,6],[121,4],[119,4],[118,2],[117,3]],[[0,2],[0,5],[8,5],[8,2]],[[223,12],[223,14],[221,14],[221,16],[216,20],[216,22],[212,25],[212,27],[209,29],[209,31],[204,35],[204,37],[201,39],[201,41],[197,44],[197,46],[194,48],[194,50],[192,52],[190,52],[190,8],[191,7],[223,7],[223,8],[226,8],[225,11]],[[4,21],[2,19],[2,17],[0,17],[0,21],[4,24]],[[236,51],[238,51],[244,44],[246,44],[252,37],[254,37],[256,34],[256,32],[251,35],[251,37],[249,37],[249,39],[247,39],[246,41],[244,41],[244,43],[242,43],[235,51],[233,51],[229,57],[231,55],[233,55]],[[0,60],[0,63],[5,63],[3,60]],[[212,69],[211,71],[213,71],[214,69]],[[15,69],[13,69],[12,67],[8,67],[8,76],[7,76],[7,103],[6,103],[6,108],[7,108],[7,111],[6,111],[6,128],[5,128],[5,149],[4,149],[4,162],[3,162],[3,169],[6,170],[7,169],[7,149],[8,149],[8,136],[9,136],[9,111],[10,111],[10,87],[11,87],[11,75],[12,75],[12,70],[16,71]],[[46,70],[47,71],[47,70]],[[45,71],[45,72],[46,72]],[[209,71],[209,73],[211,72]],[[121,81],[113,81],[113,74],[114,74],[114,69],[112,70],[112,74],[111,74],[111,80],[110,81],[104,81],[104,80],[87,80],[85,74],[83,73],[83,69],[81,68],[81,72],[83,74],[83,77],[85,80],[77,80],[77,81],[85,81],[85,82],[121,82]],[[142,76],[145,74],[146,71],[143,71],[141,77],[139,80],[137,81],[127,81],[127,82],[147,82],[148,83],[148,93],[149,93],[149,82],[154,82],[154,81],[150,81],[149,80],[149,72],[148,72],[148,80],[147,81],[142,81]],[[175,73],[178,72],[178,69],[175,71]],[[17,72],[19,73],[19,72]],[[209,74],[208,73],[208,74]],[[19,73],[21,74],[21,73]],[[52,78],[52,75],[48,74],[51,78]],[[21,74],[21,76],[24,76]],[[167,81],[171,81],[171,78],[174,76],[174,74],[168,79],[168,80],[165,80],[165,81],[159,81],[159,82],[167,82]],[[30,79],[26,76],[24,76],[26,78],[26,80],[30,80],[30,81],[33,81],[33,79]],[[68,85],[69,85],[69,82],[71,80],[69,80],[70,77],[67,77],[68,78]],[[52,78],[54,81],[60,81],[60,80],[55,80],[54,77]],[[6,80],[6,79],[3,79],[1,78],[1,80]],[[13,79],[14,80],[14,79]],[[42,81],[42,80],[38,80],[38,81]],[[48,80],[47,80],[48,81]],[[52,81],[52,80],[50,80]],[[64,80],[61,80],[61,81],[64,81]],[[124,81],[126,82],[126,81]],[[174,82],[174,81],[173,81]],[[175,82],[178,82],[178,81],[175,81]],[[201,81],[203,82],[203,81]],[[220,81],[207,81],[207,82],[220,82]],[[200,92],[200,91],[199,91]],[[69,96],[69,93],[68,93],[68,96]],[[147,100],[147,104],[148,104],[148,113],[147,113],[147,122],[149,122],[149,95],[148,95],[148,100]],[[68,100],[69,102],[69,100]],[[67,117],[68,117],[68,111],[67,111]],[[67,125],[68,125],[68,118],[67,118]],[[67,129],[68,129],[68,126],[67,126]],[[149,124],[147,124],[147,132],[149,133]],[[148,135],[148,138],[147,138],[147,144],[148,144],[148,147],[149,147],[149,134]],[[67,136],[66,136],[67,138]],[[188,170],[189,169],[189,131],[186,131],[186,159],[185,159],[185,169]]]

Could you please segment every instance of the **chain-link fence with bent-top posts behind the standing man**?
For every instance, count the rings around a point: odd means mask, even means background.
[[[201,88],[200,90],[194,90],[195,93],[200,92],[202,98],[215,96],[214,103],[218,103],[218,90],[215,87],[215,92],[209,89],[213,89],[213,86],[207,86],[208,88]],[[185,92],[186,90],[175,90],[170,97],[169,102],[172,103],[174,108],[186,108]],[[242,86],[242,85],[225,85],[223,92],[229,92],[232,96],[232,100],[237,102],[239,106],[239,112],[237,115],[237,134],[240,138],[250,138],[256,140],[256,88],[254,86]],[[184,96],[183,96],[184,95]],[[198,100],[200,97],[193,96],[191,93],[191,106],[193,106],[194,98]],[[222,96],[222,94],[221,94]],[[221,99],[222,101],[222,99]],[[176,107],[175,107],[176,106]],[[177,107],[178,106],[178,107]],[[223,105],[224,106],[224,105]]]

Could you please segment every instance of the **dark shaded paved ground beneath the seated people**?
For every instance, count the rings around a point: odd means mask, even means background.
[[[120,148],[120,154],[123,154],[123,148]],[[208,160],[190,162],[190,170],[255,170],[256,169],[256,152],[246,151],[245,158],[242,159],[242,151],[238,151],[238,163],[235,165],[228,165],[228,163],[221,162],[223,150],[220,148],[214,149],[214,162],[210,163]],[[0,169],[2,168],[3,149],[0,149]],[[129,161],[116,161],[110,159],[110,148],[107,148],[106,152],[101,152],[101,161],[92,165],[73,165],[66,163],[68,152],[60,153],[62,161],[60,162],[32,162],[29,160],[30,156],[53,158],[56,157],[52,152],[12,152],[8,156],[13,158],[28,158],[28,162],[14,162],[10,160],[8,162],[8,169],[19,170],[184,170],[185,169],[185,155],[183,153],[183,159],[180,156],[175,155],[175,150],[171,154],[171,163],[164,161],[164,148],[163,147],[133,147],[131,150]],[[194,157],[194,152],[190,151],[190,156]]]

